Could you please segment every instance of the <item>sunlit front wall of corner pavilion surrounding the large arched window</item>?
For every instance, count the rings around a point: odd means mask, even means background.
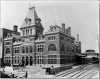
[[[59,33],[50,33],[45,35],[45,56],[48,66],[60,66],[60,47]],[[49,50],[50,45],[54,45],[56,50]]]

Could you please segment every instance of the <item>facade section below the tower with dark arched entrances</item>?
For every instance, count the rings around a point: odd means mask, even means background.
[[[13,65],[32,65],[34,62],[34,42],[15,42],[13,46]],[[16,49],[19,51],[16,51]],[[24,63],[23,63],[24,62]]]

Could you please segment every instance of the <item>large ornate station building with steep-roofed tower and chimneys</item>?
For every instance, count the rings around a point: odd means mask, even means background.
[[[30,7],[20,28],[21,35],[4,39],[4,63],[38,66],[74,63],[75,54],[81,53],[81,43],[71,35],[71,27],[65,27],[64,23],[61,27],[53,25],[43,34],[41,19],[35,7]]]

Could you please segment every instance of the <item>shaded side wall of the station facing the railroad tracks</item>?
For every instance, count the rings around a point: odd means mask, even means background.
[[[75,52],[73,51],[74,39],[71,36],[60,34],[60,64],[74,62]]]

